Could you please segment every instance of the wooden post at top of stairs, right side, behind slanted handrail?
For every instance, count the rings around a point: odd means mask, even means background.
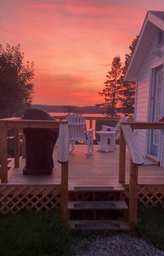
[[[125,183],[126,142],[120,126],[119,136],[119,183]]]

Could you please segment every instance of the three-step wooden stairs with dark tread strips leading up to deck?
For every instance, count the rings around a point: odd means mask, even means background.
[[[124,188],[121,184],[110,187],[75,187],[74,191],[78,192],[106,192],[114,193],[114,198],[117,200],[111,201],[68,201],[68,210],[80,211],[80,210],[93,210],[92,220],[69,220],[68,224],[73,230],[129,230],[130,225],[127,221],[128,206],[123,200]],[[96,196],[94,197],[96,199]],[[117,219],[113,220],[97,220],[97,210],[109,210],[109,216],[113,210],[118,211]],[[78,216],[78,215],[77,215]],[[100,216],[99,216],[100,218]],[[102,217],[103,218],[103,217]]]

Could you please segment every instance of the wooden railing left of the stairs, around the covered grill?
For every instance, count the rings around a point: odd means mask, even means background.
[[[68,122],[21,120],[21,118],[0,119],[0,174],[1,183],[8,183],[8,130],[14,128],[14,167],[20,166],[20,128],[59,128],[58,162],[61,163],[61,220],[68,218]],[[25,158],[25,136],[22,138],[22,157]]]

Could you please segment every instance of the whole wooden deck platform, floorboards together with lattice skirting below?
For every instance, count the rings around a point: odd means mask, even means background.
[[[118,182],[119,150],[108,153],[97,152],[98,147],[95,145],[93,154],[86,156],[86,145],[76,145],[74,152],[69,154],[69,193],[67,194],[69,201],[98,200],[101,201],[103,208],[108,209],[111,206],[107,206],[106,202],[102,201],[107,200],[112,203],[117,201],[121,195],[121,198],[128,203],[130,198],[128,150],[126,150],[126,179],[122,186]],[[67,201],[66,204],[62,204],[61,164],[57,162],[57,153],[58,148],[55,148],[54,170],[51,175],[23,175],[25,159],[22,158],[19,168],[14,169],[12,166],[8,170],[8,183],[0,184],[0,213],[15,213],[23,208],[35,211],[49,210],[59,207],[59,205],[64,205],[66,209],[63,212],[67,213]],[[138,181],[137,198],[142,204],[147,207],[163,204],[164,168],[139,166]],[[88,207],[87,202],[83,202],[83,204]]]

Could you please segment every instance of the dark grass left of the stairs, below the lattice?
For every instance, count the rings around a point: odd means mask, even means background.
[[[65,256],[70,245],[70,230],[54,210],[0,215],[1,256]]]

